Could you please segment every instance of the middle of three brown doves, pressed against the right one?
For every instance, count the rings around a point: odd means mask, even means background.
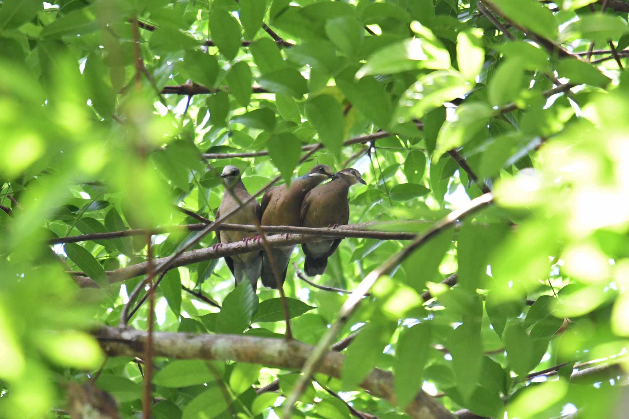
[[[262,225],[290,225],[299,226],[299,213],[301,201],[306,193],[313,189],[328,177],[333,177],[332,169],[325,164],[318,164],[291,182],[290,187],[280,185],[270,188],[262,197]],[[288,262],[294,246],[277,247],[272,249],[272,255],[280,272],[282,284],[286,279]],[[269,288],[277,288],[277,281],[273,275],[269,258],[264,255],[262,260],[262,272],[260,274],[262,284]]]

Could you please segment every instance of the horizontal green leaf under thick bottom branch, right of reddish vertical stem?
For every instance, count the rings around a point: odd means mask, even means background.
[[[214,371],[216,367],[211,367],[211,362],[200,359],[174,360],[167,366],[157,371],[153,377],[153,384],[169,388],[195,386],[197,384],[214,383],[220,379]],[[218,374],[218,371],[216,372]]]

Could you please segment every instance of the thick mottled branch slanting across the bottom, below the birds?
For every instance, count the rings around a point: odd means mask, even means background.
[[[147,333],[130,328],[102,327],[92,332],[109,355],[138,356],[143,354]],[[153,354],[172,359],[235,360],[282,369],[300,369],[313,347],[296,340],[262,338],[245,335],[209,335],[194,333],[153,333]],[[345,356],[326,352],[316,372],[340,377]],[[397,403],[391,372],[374,369],[360,383],[374,396]],[[406,412],[416,419],[451,419],[453,416],[440,403],[420,391],[406,406]]]

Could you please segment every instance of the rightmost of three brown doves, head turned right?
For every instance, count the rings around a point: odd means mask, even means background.
[[[356,183],[367,184],[356,169],[340,170],[335,179],[315,187],[306,194],[301,204],[300,223],[303,227],[327,227],[347,224],[350,206],[347,194],[350,186]],[[303,243],[301,249],[306,255],[304,272],[308,276],[321,275],[328,266],[330,257],[343,240]]]

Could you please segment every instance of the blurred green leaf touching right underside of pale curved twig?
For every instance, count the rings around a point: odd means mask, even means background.
[[[452,246],[453,235],[452,228],[444,230],[414,250],[402,262],[406,272],[406,284],[413,287],[417,293],[423,293],[426,281],[433,281],[437,275],[443,255]]]

